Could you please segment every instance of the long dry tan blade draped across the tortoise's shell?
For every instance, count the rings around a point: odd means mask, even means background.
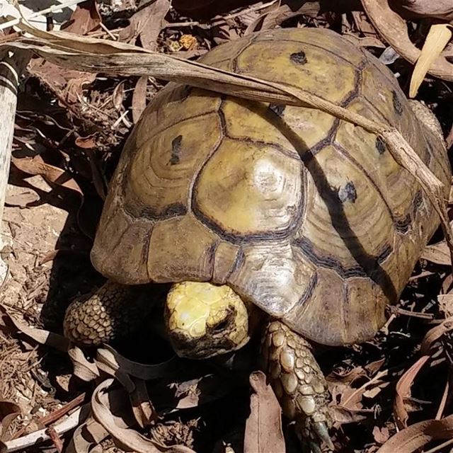
[[[151,75],[253,101],[316,108],[377,134],[387,145],[398,164],[418,180],[429,197],[440,216],[450,254],[453,256],[453,234],[448,222],[447,205],[442,195],[442,183],[394,127],[368,120],[309,91],[243,74],[234,74],[120,42],[96,40],[64,32],[43,32],[26,23],[22,23],[21,27],[34,38],[7,42],[3,46],[33,50],[41,57],[71,69],[106,74]]]

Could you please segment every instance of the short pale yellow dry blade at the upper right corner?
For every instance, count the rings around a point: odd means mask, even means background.
[[[411,78],[411,87],[409,88],[409,97],[414,98],[418,88],[425,79],[426,73],[429,71],[435,59],[440,56],[442,50],[452,38],[453,28],[447,23],[435,23],[431,25],[428,36],[426,37],[423,49],[420,52],[417,63],[413,69]]]

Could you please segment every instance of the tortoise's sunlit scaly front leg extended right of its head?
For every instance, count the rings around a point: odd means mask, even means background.
[[[265,371],[283,414],[297,424],[297,435],[313,452],[320,441],[333,449],[328,435],[329,394],[310,344],[280,321],[270,321],[263,336]]]

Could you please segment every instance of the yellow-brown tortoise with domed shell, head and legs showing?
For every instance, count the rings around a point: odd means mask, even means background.
[[[396,127],[447,197],[434,115],[333,31],[265,30],[200,61]],[[319,451],[332,447],[329,396],[312,348],[372,338],[438,224],[420,185],[361,127],[170,83],[127,139],[105,200],[91,260],[108,282],[69,306],[64,331],[83,344],[125,335],[151,305],[137,295],[149,282],[173,283],[164,317],[180,356],[237,350],[264,324],[263,369]]]

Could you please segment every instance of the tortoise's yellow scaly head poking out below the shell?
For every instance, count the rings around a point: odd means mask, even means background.
[[[174,350],[180,357],[205,359],[242,348],[250,339],[249,308],[227,285],[176,283],[165,307]]]

